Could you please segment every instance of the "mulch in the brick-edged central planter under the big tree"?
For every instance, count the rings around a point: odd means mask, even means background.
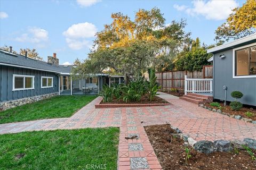
[[[158,96],[155,96],[152,101],[149,101],[148,96],[145,95],[145,96],[141,96],[141,100],[136,102],[127,101],[127,103],[125,103],[125,101],[123,101],[123,99],[121,98],[121,99],[113,99],[112,102],[103,102],[102,100],[100,104],[169,104],[169,102]]]

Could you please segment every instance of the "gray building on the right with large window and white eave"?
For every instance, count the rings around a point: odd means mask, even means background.
[[[256,106],[256,33],[207,50],[213,61],[213,98],[234,101],[232,91],[241,91],[242,104]],[[223,86],[225,86],[223,88]]]

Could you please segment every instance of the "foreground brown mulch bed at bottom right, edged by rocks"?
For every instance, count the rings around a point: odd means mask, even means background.
[[[186,146],[182,139],[175,137],[177,133],[170,124],[145,126],[145,130],[163,169],[256,169],[256,160],[252,161],[245,150],[239,149],[238,154],[218,151],[207,155],[190,146],[187,148],[191,149],[191,158],[186,165]]]

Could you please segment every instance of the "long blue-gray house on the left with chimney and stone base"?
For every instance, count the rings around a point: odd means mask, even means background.
[[[72,80],[73,65],[59,65],[56,54],[48,61],[0,49],[0,111],[56,95],[99,94],[103,84],[123,83],[123,76],[91,74]]]

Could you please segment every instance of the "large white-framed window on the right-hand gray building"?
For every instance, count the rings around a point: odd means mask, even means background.
[[[256,78],[256,43],[233,49],[233,78]]]

